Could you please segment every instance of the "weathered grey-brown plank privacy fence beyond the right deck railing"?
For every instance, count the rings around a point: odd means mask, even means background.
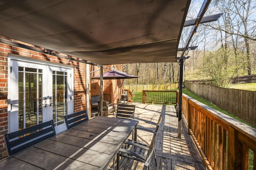
[[[190,92],[256,126],[256,92],[185,82]]]

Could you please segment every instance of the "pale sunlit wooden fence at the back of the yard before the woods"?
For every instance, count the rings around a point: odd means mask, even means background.
[[[142,92],[142,90],[170,90],[175,88],[178,88],[178,83],[124,85],[124,89],[129,89],[133,93]]]

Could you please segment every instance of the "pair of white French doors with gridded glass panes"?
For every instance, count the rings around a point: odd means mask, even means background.
[[[10,58],[9,131],[54,121],[66,130],[64,115],[73,113],[73,68]]]

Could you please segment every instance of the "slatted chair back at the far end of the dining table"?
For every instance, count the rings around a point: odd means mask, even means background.
[[[118,104],[116,117],[125,119],[134,119],[135,105]]]

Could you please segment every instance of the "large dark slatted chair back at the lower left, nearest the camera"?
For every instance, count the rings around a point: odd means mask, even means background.
[[[9,156],[56,135],[53,120],[4,135]]]

